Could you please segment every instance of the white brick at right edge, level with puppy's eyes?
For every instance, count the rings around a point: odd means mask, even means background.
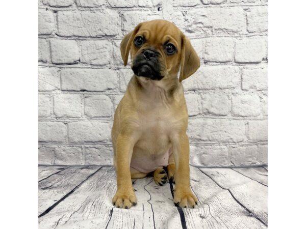
[[[259,63],[266,55],[264,38],[243,38],[236,41],[235,62]]]

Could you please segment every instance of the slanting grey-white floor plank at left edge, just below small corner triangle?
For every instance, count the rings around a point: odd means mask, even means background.
[[[43,214],[100,166],[72,166],[38,183],[38,214]]]

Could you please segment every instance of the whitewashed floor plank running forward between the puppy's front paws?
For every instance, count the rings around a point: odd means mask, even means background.
[[[134,181],[138,204],[131,210],[114,208],[108,228],[182,228],[169,183],[158,186],[151,177]]]

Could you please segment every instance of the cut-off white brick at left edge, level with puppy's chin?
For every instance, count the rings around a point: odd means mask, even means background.
[[[60,89],[60,70],[58,68],[38,67],[38,90],[53,92]]]

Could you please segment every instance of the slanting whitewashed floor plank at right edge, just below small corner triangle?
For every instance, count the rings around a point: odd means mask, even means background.
[[[268,188],[230,168],[200,168],[221,188],[230,191],[232,196],[264,224],[268,223]]]

